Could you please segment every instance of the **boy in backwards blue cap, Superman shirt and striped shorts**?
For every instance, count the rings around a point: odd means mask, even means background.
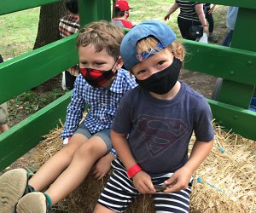
[[[124,95],[113,120],[119,158],[97,213],[123,212],[139,193],[153,195],[156,212],[189,212],[192,175],[210,153],[214,131],[205,97],[178,81],[185,51],[175,37],[166,24],[148,20],[122,40],[120,55],[139,86]]]

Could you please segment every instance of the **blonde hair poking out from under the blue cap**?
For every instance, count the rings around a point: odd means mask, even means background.
[[[148,54],[155,54],[157,52],[160,52],[163,49],[160,49],[156,44],[159,43],[159,41],[155,37],[145,37],[142,40],[137,42],[137,53],[143,53],[146,52]],[[181,60],[185,57],[185,48],[183,47],[183,44],[177,40],[174,40],[168,47],[169,51],[174,55],[175,57],[179,57]],[[155,51],[157,50],[157,51]]]

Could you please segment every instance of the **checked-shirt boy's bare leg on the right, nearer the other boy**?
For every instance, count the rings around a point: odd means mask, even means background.
[[[71,164],[61,173],[55,182],[45,192],[52,204],[73,192],[84,181],[92,166],[107,153],[107,146],[99,136],[92,136],[74,153]]]

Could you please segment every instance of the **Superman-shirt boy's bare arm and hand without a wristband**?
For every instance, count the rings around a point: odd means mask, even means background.
[[[165,185],[168,186],[168,188],[164,192],[172,193],[187,188],[191,176],[211,152],[212,145],[213,141],[195,141],[189,161],[165,181]]]

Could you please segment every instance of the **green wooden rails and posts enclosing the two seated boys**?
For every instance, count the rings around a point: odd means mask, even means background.
[[[59,1],[3,0],[0,3],[0,15]],[[186,58],[188,62],[185,68],[224,78],[219,100],[208,100],[213,117],[225,128],[256,141],[256,113],[247,110],[256,84],[256,2],[204,0],[204,3],[240,7],[232,46],[225,48],[186,41],[185,46],[191,55]],[[79,0],[81,26],[92,20],[110,20],[110,9],[110,0]],[[76,64],[76,36],[49,43],[0,64],[0,103],[9,101]],[[53,130],[59,124],[59,119],[64,122],[70,95],[71,92],[63,95],[0,135],[0,170],[42,141],[42,136]]]

